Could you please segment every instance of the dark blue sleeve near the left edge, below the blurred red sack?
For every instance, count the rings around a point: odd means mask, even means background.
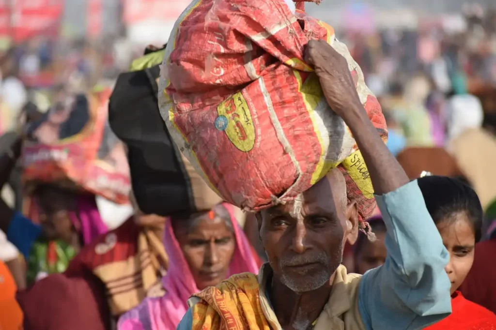
[[[7,240],[24,255],[24,259],[28,260],[33,243],[41,234],[41,226],[16,212],[10,221],[6,234]]]

